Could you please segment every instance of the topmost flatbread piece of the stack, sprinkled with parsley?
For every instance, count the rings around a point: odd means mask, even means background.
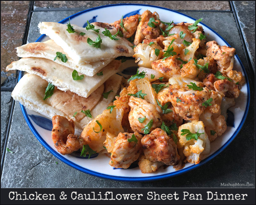
[[[112,28],[110,32],[112,34],[117,33],[114,26],[106,23],[96,22],[94,23],[95,29],[100,29],[99,33],[93,30],[86,30],[83,27],[72,25],[77,33],[68,33],[67,25],[59,24],[55,22],[40,22],[38,27],[41,34],[46,34],[54,42],[63,48],[75,62],[95,62],[100,60],[106,60],[108,58],[116,58],[118,56],[132,56],[134,51],[131,46],[132,43],[123,37],[119,37],[119,40],[111,40],[108,36],[102,34],[107,29]],[[83,36],[79,33],[85,33]],[[95,48],[87,43],[87,39],[95,41],[100,35],[102,39],[101,48]]]

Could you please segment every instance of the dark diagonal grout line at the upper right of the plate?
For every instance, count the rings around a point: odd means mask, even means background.
[[[247,65],[248,65],[248,68],[249,68],[249,75],[250,75],[250,79],[251,79],[251,82],[252,84],[254,85],[255,84],[255,74],[253,72],[253,69],[252,69],[252,62],[249,58],[249,54],[248,54],[248,50],[247,50],[247,46],[245,44],[245,40],[244,40],[244,36],[242,34],[242,28],[239,24],[239,21],[238,21],[238,18],[237,18],[237,14],[236,14],[236,10],[234,8],[234,4],[233,4],[233,1],[229,1],[229,4],[230,4],[230,7],[233,11],[233,15],[234,15],[234,18],[235,18],[235,21],[236,21],[236,26],[238,28],[238,33],[239,33],[239,36],[241,38],[241,41],[242,41],[242,46],[243,46],[243,49],[244,49],[244,55],[245,55],[245,59],[246,59],[246,62],[247,62]],[[252,88],[254,89],[254,87],[252,86]]]

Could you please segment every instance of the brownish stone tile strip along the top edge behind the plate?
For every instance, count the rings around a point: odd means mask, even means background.
[[[228,1],[122,1],[122,4],[149,4],[173,10],[230,10]],[[35,1],[34,10],[49,8],[83,8],[120,4],[120,1]]]

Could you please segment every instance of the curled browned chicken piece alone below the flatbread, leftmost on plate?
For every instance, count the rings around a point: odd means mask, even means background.
[[[75,125],[72,119],[54,115],[52,127],[52,141],[60,154],[70,154],[83,147],[83,139],[74,135]]]

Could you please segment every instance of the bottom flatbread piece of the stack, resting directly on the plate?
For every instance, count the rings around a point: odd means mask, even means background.
[[[108,83],[106,83],[106,86],[101,85],[100,88],[88,98],[80,97],[69,91],[63,92],[55,88],[53,95],[50,98],[43,100],[48,82],[37,75],[28,73],[20,79],[13,89],[12,98],[19,101],[28,109],[38,112],[50,119],[52,119],[54,115],[61,115],[67,119],[72,118],[76,130],[81,132],[85,125],[93,119],[86,117],[84,113],[81,113],[81,110],[91,108],[90,110],[92,113],[94,112],[94,108],[100,110],[106,109],[113,99],[109,94],[108,99],[104,101],[102,99],[103,89],[105,91],[112,88],[115,95],[120,87],[121,79],[122,77],[114,74],[107,80]],[[111,84],[110,82],[115,83],[114,87],[108,87],[108,84]],[[97,103],[100,103],[100,106],[97,106],[96,108]],[[75,117],[72,117],[75,112],[77,112]]]

